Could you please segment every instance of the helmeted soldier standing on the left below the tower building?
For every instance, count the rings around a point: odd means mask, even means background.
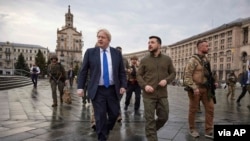
[[[57,106],[57,86],[58,90],[60,92],[60,102],[63,102],[63,89],[64,89],[64,83],[66,80],[66,74],[65,74],[65,69],[64,67],[58,63],[58,58],[56,55],[51,56],[51,64],[48,66],[48,74],[50,76],[50,85],[51,85],[51,90],[52,90],[52,98],[53,98],[53,104],[52,107]]]

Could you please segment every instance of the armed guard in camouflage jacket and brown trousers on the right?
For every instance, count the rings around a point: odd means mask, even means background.
[[[205,107],[205,137],[213,138],[213,118],[214,118],[214,101],[213,95],[211,95],[211,90],[207,87],[208,74],[212,74],[205,67],[205,64],[209,66],[210,63],[206,58],[208,53],[208,43],[206,40],[200,40],[197,42],[198,54],[192,56],[188,61],[184,70],[184,85],[185,90],[188,92],[189,97],[189,115],[188,123],[190,135],[193,137],[199,137],[199,133],[195,127],[195,115],[198,110],[198,105],[200,100]],[[212,77],[212,75],[209,75]],[[215,85],[218,87],[218,80],[215,80]]]

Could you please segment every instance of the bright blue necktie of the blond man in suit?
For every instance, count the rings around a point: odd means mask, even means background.
[[[109,69],[108,69],[108,59],[106,55],[106,50],[103,50],[103,80],[104,86],[109,87]]]

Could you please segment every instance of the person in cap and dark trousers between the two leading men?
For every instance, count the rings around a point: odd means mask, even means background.
[[[139,86],[138,81],[136,79],[136,73],[138,71],[138,64],[137,64],[138,58],[137,56],[133,56],[130,58],[130,60],[131,60],[131,66],[130,66],[131,69],[128,71],[128,88],[126,91],[124,110],[128,109],[132,94],[134,92],[135,93],[134,111],[138,112],[141,101],[141,87]]]

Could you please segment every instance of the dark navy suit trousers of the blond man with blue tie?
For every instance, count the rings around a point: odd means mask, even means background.
[[[98,86],[92,103],[98,140],[106,141],[109,131],[115,125],[120,110],[120,100],[116,95],[115,86],[109,86],[108,88]]]

